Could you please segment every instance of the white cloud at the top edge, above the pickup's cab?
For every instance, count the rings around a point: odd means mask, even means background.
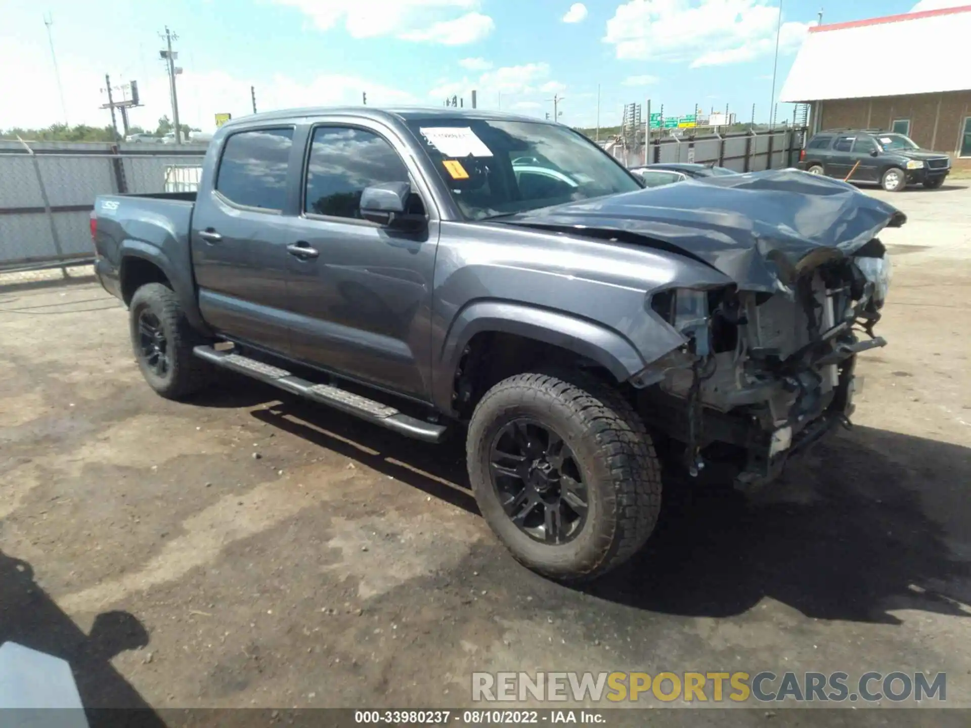
[[[320,30],[342,21],[352,38],[395,36],[407,41],[460,46],[488,35],[492,18],[480,0],[273,0],[296,8]]]

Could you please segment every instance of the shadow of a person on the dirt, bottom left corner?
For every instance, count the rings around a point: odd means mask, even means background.
[[[117,653],[149,644],[149,633],[135,616],[103,612],[85,635],[38,586],[30,565],[2,551],[0,605],[0,645],[14,642],[67,660],[91,728],[115,726],[132,716],[148,728],[164,725],[111,663]]]

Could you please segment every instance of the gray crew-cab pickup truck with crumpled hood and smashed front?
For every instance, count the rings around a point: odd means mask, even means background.
[[[848,423],[904,220],[805,172],[645,189],[559,124],[365,107],[233,120],[197,193],[100,196],[91,230],[160,395],[232,370],[464,434],[497,536],[579,580],[648,539],[662,473],[765,483]]]

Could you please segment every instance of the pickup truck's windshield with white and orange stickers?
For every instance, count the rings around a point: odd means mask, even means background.
[[[441,116],[407,123],[468,219],[641,189],[617,162],[566,127]]]

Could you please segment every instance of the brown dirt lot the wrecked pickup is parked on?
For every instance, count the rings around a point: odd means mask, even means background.
[[[0,643],[89,706],[454,707],[519,669],[947,671],[971,706],[971,189],[885,196],[854,430],[754,500],[666,493],[586,590],[506,554],[454,448],[245,381],[167,402],[97,284],[0,285]]]

